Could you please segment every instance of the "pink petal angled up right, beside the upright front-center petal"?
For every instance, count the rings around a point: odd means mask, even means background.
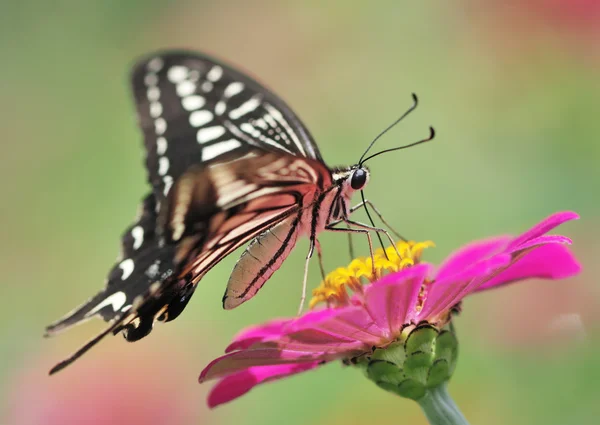
[[[461,272],[436,280],[431,284],[423,308],[418,314],[419,320],[435,319],[462,300],[478,285],[483,284],[490,275],[506,267],[511,262],[509,254],[495,255],[479,261]]]

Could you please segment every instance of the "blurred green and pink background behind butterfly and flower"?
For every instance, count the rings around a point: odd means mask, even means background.
[[[99,290],[146,193],[127,76],[157,48],[212,53],[266,82],[330,165],[380,141],[435,142],[371,163],[369,198],[440,261],[472,239],[572,209],[581,276],[468,299],[450,389],[473,424],[597,424],[600,415],[600,2],[23,0],[0,6],[0,423],[424,424],[418,406],[329,365],[209,411],[203,366],[240,328],[299,302],[306,241],[235,311],[221,296],[236,255],[185,313],[128,344],[107,338],[49,378],[103,324],[43,328]],[[346,239],[322,239],[326,267]],[[362,253],[366,246],[361,245]],[[313,263],[311,285],[319,281]]]

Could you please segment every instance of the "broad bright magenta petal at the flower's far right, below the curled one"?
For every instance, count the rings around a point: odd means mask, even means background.
[[[477,288],[477,291],[530,278],[564,279],[580,271],[581,265],[566,246],[543,245],[525,254],[509,268]]]

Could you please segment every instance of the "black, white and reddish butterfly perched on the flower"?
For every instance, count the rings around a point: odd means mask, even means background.
[[[315,249],[320,252],[320,232],[363,233],[371,252],[369,232],[391,240],[384,229],[350,219],[357,208],[371,205],[363,195],[363,202],[350,206],[354,192],[362,195],[369,180],[365,161],[399,149],[366,157],[379,136],[357,164],[330,168],[283,100],[199,53],[148,56],[134,66],[131,86],[151,191],[122,236],[105,288],[48,326],[46,335],[97,316],[108,327],[50,374],[110,333],[137,341],[156,321],[175,319],[204,275],[248,242],[227,283],[226,309],[252,298],[302,236],[310,241],[302,301],[309,260]],[[413,98],[396,122],[416,107]],[[428,138],[408,146],[433,137],[430,127]]]

